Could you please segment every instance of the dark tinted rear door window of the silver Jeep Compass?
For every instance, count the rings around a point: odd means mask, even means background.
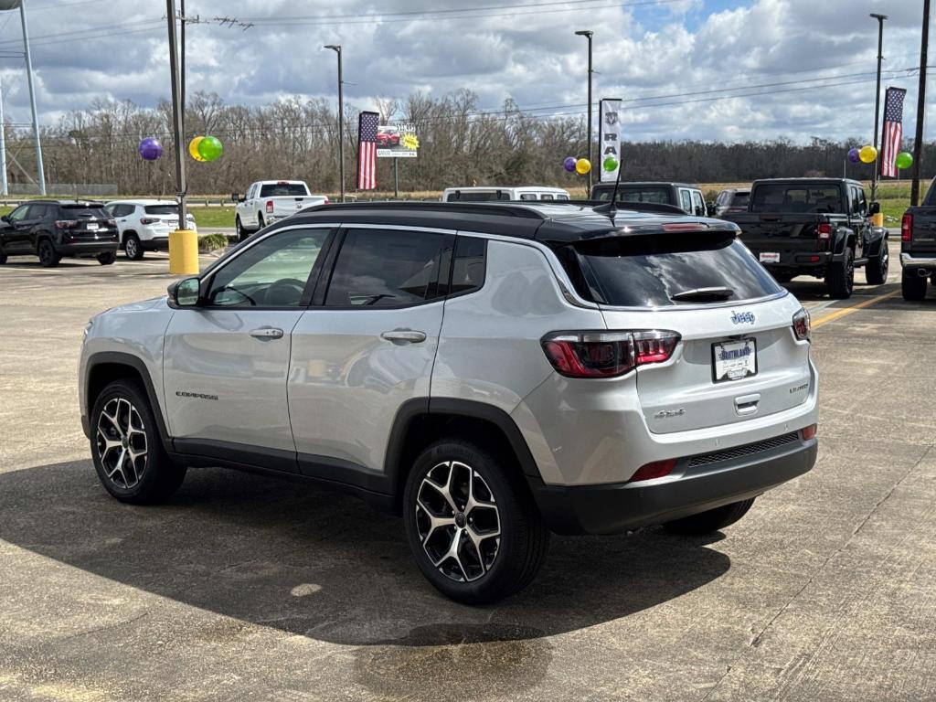
[[[388,307],[437,296],[445,237],[416,231],[351,229],[331,274],[329,307]]]

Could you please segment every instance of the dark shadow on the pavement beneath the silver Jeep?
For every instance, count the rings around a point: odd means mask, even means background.
[[[720,534],[556,537],[531,587],[493,606],[465,607],[418,572],[401,519],[353,497],[198,469],[168,505],[123,505],[98,484],[91,461],[0,474],[0,538],[242,622],[378,645],[358,654],[364,677],[402,665],[402,649],[451,644],[502,642],[501,654],[509,649],[534,665],[548,657],[543,637],[659,605],[730,566],[706,548]]]

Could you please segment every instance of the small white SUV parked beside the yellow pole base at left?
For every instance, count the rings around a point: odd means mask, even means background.
[[[179,228],[179,205],[174,200],[111,200],[105,210],[117,220],[120,247],[127,258],[139,261],[146,251],[168,251],[169,232]],[[197,231],[189,213],[188,228]]]

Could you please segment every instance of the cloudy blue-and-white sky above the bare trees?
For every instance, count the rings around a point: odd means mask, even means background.
[[[154,105],[169,95],[163,0],[24,0],[44,122],[95,98]],[[227,102],[345,99],[467,88],[481,108],[513,98],[542,119],[584,113],[586,41],[595,99],[628,100],[631,139],[869,139],[877,23],[883,85],[908,89],[914,130],[922,0],[187,0],[190,90]],[[227,16],[248,29],[225,26]],[[207,22],[206,22],[207,21]],[[936,55],[936,49],[930,56]],[[936,60],[930,59],[931,63]],[[29,119],[19,13],[0,13],[7,120]],[[932,71],[936,73],[936,71]],[[936,99],[930,80],[930,99]],[[933,132],[927,130],[928,139]]]

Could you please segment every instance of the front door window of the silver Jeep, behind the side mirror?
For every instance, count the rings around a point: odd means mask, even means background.
[[[328,237],[327,229],[289,229],[247,249],[212,279],[217,307],[297,307]]]

